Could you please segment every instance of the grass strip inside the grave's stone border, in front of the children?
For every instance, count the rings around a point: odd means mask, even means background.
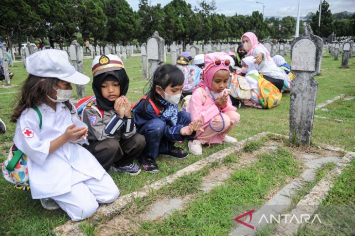
[[[159,222],[143,221],[134,235],[228,235],[231,207],[263,204],[271,189],[300,172],[301,163],[285,149],[261,154],[258,161],[235,171],[224,185],[201,194],[184,210]]]

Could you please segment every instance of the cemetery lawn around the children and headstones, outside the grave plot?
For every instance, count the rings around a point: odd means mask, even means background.
[[[340,69],[341,61],[334,61],[333,57],[328,57],[325,53],[322,60],[321,74],[315,79],[319,82],[317,104],[329,100],[339,94],[355,94],[355,59],[349,60],[349,69]],[[167,60],[171,62],[170,55]],[[286,61],[290,63],[289,55]],[[92,60],[84,59],[84,74],[91,76]],[[142,81],[141,57],[132,56],[124,62],[127,74],[130,78],[130,86],[127,94],[131,103],[137,101],[143,92],[143,88],[147,81]],[[22,63],[15,63],[10,70],[15,74],[11,79],[11,86],[5,86],[4,82],[0,82],[0,117],[6,123],[8,130],[5,134],[0,135],[0,162],[6,158],[6,150],[9,148],[9,142],[14,136],[15,124],[10,123],[10,117],[17,101],[16,96],[20,89],[22,81],[27,77],[25,68]],[[86,94],[93,94],[91,83],[85,86]],[[75,90],[75,89],[74,89]],[[76,98],[74,92],[73,98]],[[242,107],[238,109],[241,114],[240,123],[233,128],[231,136],[238,140],[246,139],[262,131],[271,131],[284,135],[289,134],[289,94],[284,94],[282,103],[275,109],[259,110],[253,108]],[[338,106],[331,106],[335,113],[323,115],[329,118],[354,120],[351,108],[354,108],[354,100],[339,101]],[[336,103],[335,103],[336,104]],[[345,108],[342,108],[344,104]],[[347,107],[350,106],[350,107]],[[328,107],[327,107],[328,108]],[[318,111],[317,111],[318,112]],[[318,113],[317,113],[318,114]],[[330,115],[329,115],[330,114]],[[45,117],[43,117],[45,119]],[[312,142],[327,143],[334,146],[343,147],[349,151],[355,151],[355,129],[352,122],[335,122],[328,119],[315,118]],[[180,144],[185,150],[187,142]],[[177,161],[168,158],[159,157],[157,160],[160,166],[160,173],[148,174],[141,173],[138,176],[126,176],[118,173],[110,172],[119,187],[121,194],[129,193],[134,190],[152,183],[166,175],[177,172],[189,164],[206,157],[216,151],[223,149],[228,144],[211,145],[210,148],[204,148],[202,156],[190,155],[185,160]],[[47,235],[54,226],[64,223],[69,218],[61,211],[46,211],[38,200],[31,200],[29,192],[13,189],[12,185],[0,178],[0,235]],[[147,226],[149,227],[149,226]]]

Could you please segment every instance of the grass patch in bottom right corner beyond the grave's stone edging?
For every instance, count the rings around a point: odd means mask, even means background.
[[[322,224],[307,224],[298,235],[355,235],[355,159],[337,178],[334,187],[321,203]]]

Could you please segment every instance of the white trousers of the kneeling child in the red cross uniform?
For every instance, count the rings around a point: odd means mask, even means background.
[[[73,179],[70,192],[51,197],[73,221],[89,218],[95,213],[99,203],[112,203],[120,195],[108,173],[101,180],[78,172],[74,175],[76,179]],[[82,181],[79,182],[80,179]]]

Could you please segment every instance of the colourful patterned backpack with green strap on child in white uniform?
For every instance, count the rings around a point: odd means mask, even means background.
[[[42,114],[37,107],[32,108],[39,117],[39,129],[42,128]],[[10,147],[7,159],[2,163],[2,175],[16,189],[30,190],[30,180],[27,169],[27,156],[17,148],[15,143]]]

